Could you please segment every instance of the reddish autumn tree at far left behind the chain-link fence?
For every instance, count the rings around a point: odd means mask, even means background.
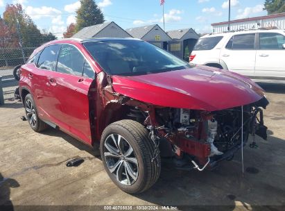
[[[5,12],[3,12],[3,21],[10,31],[12,28],[16,29],[17,33],[13,33],[11,36],[17,40],[20,36],[24,47],[36,47],[55,38],[52,34],[42,34],[19,3],[7,4]]]

